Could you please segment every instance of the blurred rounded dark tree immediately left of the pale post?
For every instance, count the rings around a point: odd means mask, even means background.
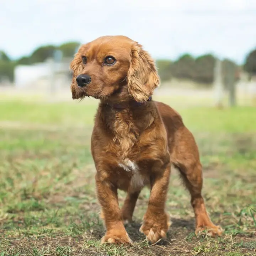
[[[195,60],[194,81],[211,84],[214,80],[215,57],[212,54],[199,56]]]

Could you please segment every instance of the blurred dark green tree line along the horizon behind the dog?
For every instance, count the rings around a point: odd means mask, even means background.
[[[62,57],[73,57],[79,42],[67,42],[60,46],[47,45],[34,50],[32,54],[23,56],[17,60],[11,60],[8,55],[0,51],[0,81],[2,79],[14,80],[14,69],[17,65],[31,65],[44,62],[47,58],[53,57],[56,50],[62,53]],[[212,85],[214,80],[214,67],[216,57],[212,54],[205,54],[193,57],[190,54],[183,54],[177,60],[169,59],[156,60],[161,81],[168,81],[172,78],[188,79],[204,85]],[[240,69],[244,69],[250,75],[256,75],[256,49],[252,50],[245,58],[245,63],[238,66],[235,62],[224,59],[222,62],[222,75],[224,80],[228,79],[228,70],[235,69],[235,79],[239,79]]]

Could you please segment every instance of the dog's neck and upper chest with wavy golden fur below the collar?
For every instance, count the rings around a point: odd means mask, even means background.
[[[99,112],[102,126],[113,136],[113,142],[119,145],[119,158],[126,159],[143,131],[151,126],[156,114],[152,108],[151,97],[143,103],[123,102],[120,104],[100,103]]]

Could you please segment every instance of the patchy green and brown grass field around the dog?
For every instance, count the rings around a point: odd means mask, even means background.
[[[225,229],[221,238],[195,237],[190,198],[174,171],[167,241],[150,246],[138,232],[145,189],[127,226],[134,245],[101,245],[90,154],[95,101],[9,100],[0,102],[0,256],[256,255],[256,109],[177,110],[196,137],[203,194],[214,223]],[[121,191],[121,205],[124,197]]]

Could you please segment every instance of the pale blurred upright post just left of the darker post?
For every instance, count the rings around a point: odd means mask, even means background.
[[[222,81],[222,61],[219,58],[215,60],[214,67],[214,91],[216,96],[215,106],[218,108],[223,107],[223,81]]]

